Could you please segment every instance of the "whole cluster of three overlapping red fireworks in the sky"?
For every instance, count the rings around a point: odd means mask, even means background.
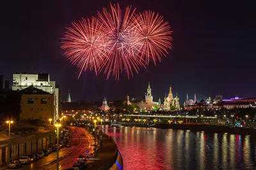
[[[103,8],[98,16],[73,22],[67,28],[61,49],[68,60],[79,67],[119,79],[156,65],[171,49],[172,31],[168,22],[154,11],[135,13],[131,6],[121,10],[119,4]]]

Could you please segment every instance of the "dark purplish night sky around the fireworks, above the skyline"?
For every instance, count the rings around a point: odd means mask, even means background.
[[[153,10],[163,15],[173,31],[173,49],[157,66],[151,64],[131,80],[120,81],[79,71],[61,55],[60,39],[65,27],[81,17],[96,15],[109,1],[6,1],[1,3],[0,74],[12,80],[12,73],[50,73],[73,101],[109,101],[141,97],[150,81],[154,101],[163,101],[170,84],[183,103],[186,93],[198,98],[256,96],[256,10],[253,1],[110,1]]]

